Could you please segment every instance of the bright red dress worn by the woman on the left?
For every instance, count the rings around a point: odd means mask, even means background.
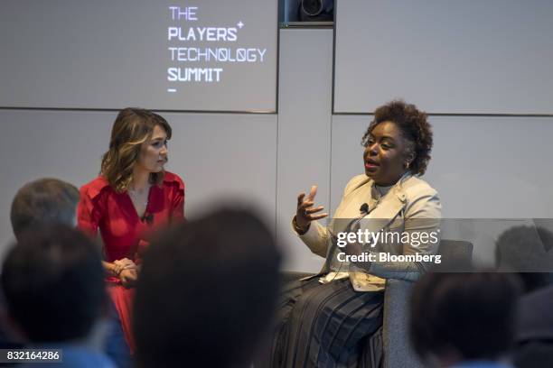
[[[96,238],[99,229],[107,262],[128,258],[140,263],[141,251],[155,230],[184,220],[183,179],[165,171],[161,187],[152,185],[150,188],[145,214],[140,217],[127,191],[117,193],[107,179],[99,176],[80,189],[77,217],[80,229],[90,236]],[[128,346],[134,353],[131,332],[134,290],[125,289],[115,277],[108,277],[107,281]]]

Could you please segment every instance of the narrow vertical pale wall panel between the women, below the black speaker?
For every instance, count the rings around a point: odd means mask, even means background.
[[[329,207],[332,56],[333,30],[280,32],[277,239],[288,250],[288,270],[319,271],[323,265],[292,234],[290,221],[298,193],[311,185],[319,186],[316,202]]]

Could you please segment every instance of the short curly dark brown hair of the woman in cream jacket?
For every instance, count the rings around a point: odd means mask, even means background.
[[[402,136],[414,144],[414,159],[409,164],[409,170],[413,174],[423,175],[430,161],[433,144],[432,126],[428,123],[428,116],[415,105],[406,104],[402,100],[391,101],[374,111],[374,119],[363,134],[361,144],[367,147],[372,130],[378,124],[388,121],[398,125]]]

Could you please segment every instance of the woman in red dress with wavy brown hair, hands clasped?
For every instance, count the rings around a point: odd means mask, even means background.
[[[184,220],[184,183],[165,171],[171,126],[148,110],[126,108],[111,131],[98,178],[80,189],[80,229],[104,244],[108,292],[131,353],[133,286],[141,253],[162,226]]]

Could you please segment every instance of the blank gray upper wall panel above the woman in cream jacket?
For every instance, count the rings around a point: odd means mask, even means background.
[[[334,112],[553,114],[552,2],[336,2]]]

